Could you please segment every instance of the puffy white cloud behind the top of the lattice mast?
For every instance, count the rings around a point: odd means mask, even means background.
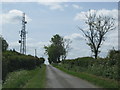
[[[16,9],[10,10],[8,13],[0,14],[0,16],[2,16],[2,23],[3,24],[5,24],[5,23],[13,23],[13,24],[19,23],[22,20],[22,15],[23,15],[23,12],[20,10],[16,10]],[[26,17],[27,22],[30,22],[32,20],[27,15],[25,17]]]

